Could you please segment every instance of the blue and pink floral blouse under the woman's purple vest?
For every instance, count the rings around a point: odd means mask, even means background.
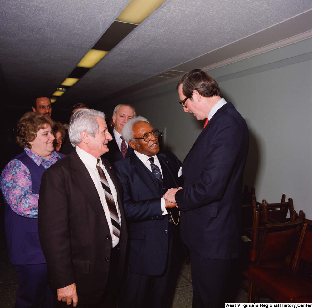
[[[46,159],[31,149],[25,148],[26,154],[38,165],[45,169],[51,167],[60,155],[53,151]],[[32,180],[28,168],[18,159],[12,159],[3,169],[0,177],[0,188],[3,197],[11,209],[18,215],[38,218],[39,194],[32,192]]]

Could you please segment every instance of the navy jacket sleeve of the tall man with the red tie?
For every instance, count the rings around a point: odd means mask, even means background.
[[[193,165],[191,160],[196,160],[200,169],[188,169],[197,180],[175,195],[181,210],[193,210],[222,198],[241,149],[242,132],[236,119],[222,114],[199,142],[200,146],[197,144],[190,153],[190,163]]]

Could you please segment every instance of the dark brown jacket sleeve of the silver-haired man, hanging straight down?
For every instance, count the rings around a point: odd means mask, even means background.
[[[71,252],[69,196],[62,177],[51,168],[44,172],[41,179],[38,231],[52,288],[71,285],[76,277]]]

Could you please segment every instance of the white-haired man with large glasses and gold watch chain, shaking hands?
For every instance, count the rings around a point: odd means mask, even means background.
[[[145,118],[130,120],[122,132],[134,152],[114,164],[129,226],[119,308],[166,308],[179,212],[163,194],[182,185],[182,164],[172,152],[159,152],[159,132]]]

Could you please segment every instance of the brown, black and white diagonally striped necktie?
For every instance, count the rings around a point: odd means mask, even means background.
[[[120,237],[120,223],[119,223],[119,217],[118,217],[116,204],[114,202],[114,198],[113,198],[112,192],[110,190],[110,185],[107,182],[105,173],[100,166],[100,159],[99,158],[97,159],[96,169],[98,169],[101,184],[102,184],[102,187],[104,189],[106,203],[107,203],[107,206],[108,206],[108,209],[110,212],[110,220],[111,220],[112,226],[113,226],[113,234],[119,238]]]

